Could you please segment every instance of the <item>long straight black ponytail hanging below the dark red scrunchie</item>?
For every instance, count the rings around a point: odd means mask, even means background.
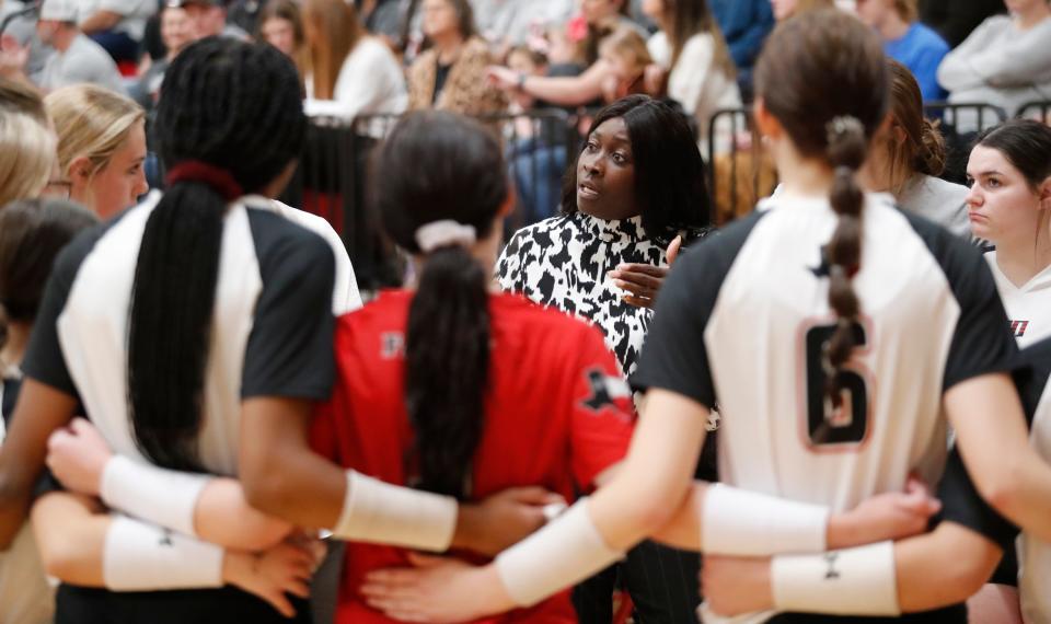
[[[146,223],[128,331],[135,440],[159,466],[199,472],[197,434],[227,201],[176,183]]]

